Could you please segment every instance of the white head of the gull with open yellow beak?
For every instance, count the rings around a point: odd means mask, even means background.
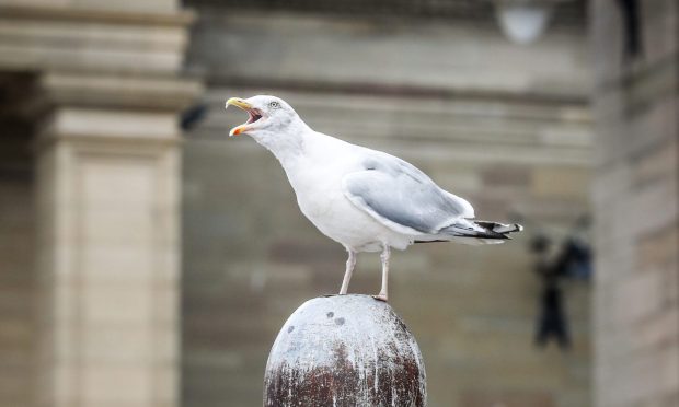
[[[226,107],[229,105],[240,107],[250,115],[248,121],[232,128],[229,136],[249,135],[260,141],[263,138],[283,136],[290,130],[297,130],[295,127],[302,123],[295,109],[276,96],[231,97],[227,101]]]

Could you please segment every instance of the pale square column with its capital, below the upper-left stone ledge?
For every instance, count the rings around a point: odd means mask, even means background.
[[[173,112],[57,106],[37,144],[39,405],[173,406]]]

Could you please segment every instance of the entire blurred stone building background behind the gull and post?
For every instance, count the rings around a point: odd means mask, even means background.
[[[346,256],[262,93],[525,224],[393,255],[429,406],[679,406],[678,57],[675,0],[0,0],[0,406],[261,405]]]

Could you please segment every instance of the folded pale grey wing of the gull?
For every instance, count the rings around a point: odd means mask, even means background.
[[[435,234],[460,218],[474,216],[468,201],[441,189],[403,160],[384,154],[362,165],[364,171],[344,177],[344,195],[396,232]]]

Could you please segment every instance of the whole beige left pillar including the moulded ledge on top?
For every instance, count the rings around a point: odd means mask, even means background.
[[[192,15],[174,0],[0,0],[0,70],[35,72],[35,404],[179,404],[179,113]],[[24,400],[21,406],[31,402]]]

